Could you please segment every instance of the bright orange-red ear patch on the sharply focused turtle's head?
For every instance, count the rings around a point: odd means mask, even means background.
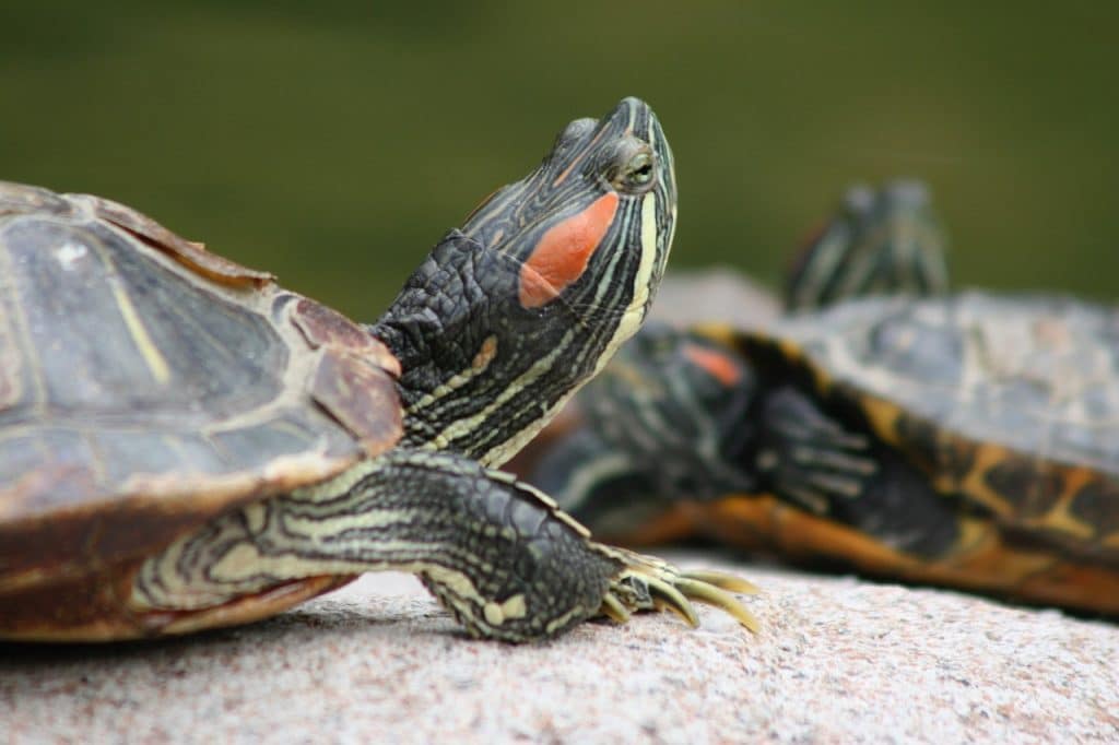
[[[520,304],[539,308],[579,280],[617,211],[618,195],[611,192],[549,227],[520,267]]]

